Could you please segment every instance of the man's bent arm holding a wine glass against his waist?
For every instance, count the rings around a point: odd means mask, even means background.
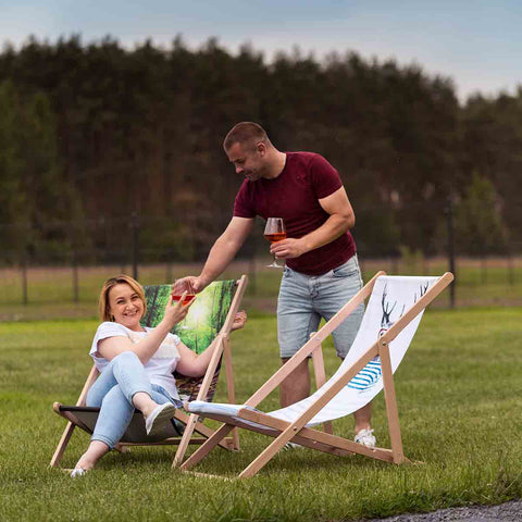
[[[345,187],[320,199],[319,204],[330,214],[330,217],[319,228],[299,239],[288,238],[273,243],[270,248],[271,253],[282,259],[298,258],[304,252],[332,243],[356,224],[356,215]]]

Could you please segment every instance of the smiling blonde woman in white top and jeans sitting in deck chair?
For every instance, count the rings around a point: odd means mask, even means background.
[[[183,306],[172,297],[161,323],[144,328],[139,321],[146,312],[141,285],[127,275],[108,279],[100,294],[103,323],[89,355],[100,376],[89,389],[87,406],[100,407],[100,413],[87,451],[79,458],[71,476],[91,470],[98,460],[120,442],[135,408],[145,417],[148,435],[154,435],[170,422],[182,401],[173,371],[187,376],[204,375],[215,344],[201,355],[187,348],[170,331],[183,321],[194,300]],[[247,315],[236,314],[232,330],[241,328]]]

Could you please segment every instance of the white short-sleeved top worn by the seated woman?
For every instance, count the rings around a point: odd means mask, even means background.
[[[134,332],[120,323],[104,322],[98,326],[95,339],[90,348],[89,355],[92,357],[96,368],[101,373],[109,364],[109,360],[99,357],[98,343],[109,337],[127,337],[134,344],[139,343],[153,328],[145,327],[146,332]],[[172,372],[176,369],[177,361],[181,356],[177,351],[177,345],[181,339],[177,335],[167,334],[163,343],[160,345],[156,353],[144,365],[145,373],[152,384],[162,386],[172,398],[178,399],[176,389],[176,380]]]

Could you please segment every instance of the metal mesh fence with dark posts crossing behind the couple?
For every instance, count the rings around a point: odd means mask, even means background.
[[[459,238],[447,221],[444,245],[439,252],[394,248],[387,254],[373,257],[358,241],[364,275],[377,270],[393,274],[456,274],[445,306],[505,306],[522,303],[522,245],[510,244],[508,252],[465,257],[459,251]],[[204,232],[204,231],[203,231]],[[248,296],[258,308],[273,309],[281,273],[265,269],[268,244],[259,222],[227,271],[231,276],[248,273]],[[127,273],[142,284],[172,282],[176,277],[198,274],[215,235],[191,234],[174,227],[172,220],[138,217],[132,214],[119,220],[82,223],[48,223],[39,229],[23,225],[0,226],[0,234],[24,240],[0,252],[0,312],[3,318],[26,318],[24,307],[52,304],[90,307],[96,302],[104,278]],[[358,229],[355,231],[357,240]],[[362,246],[361,246],[362,245]],[[477,246],[476,251],[481,251]],[[225,274],[226,275],[226,274]],[[22,308],[21,308],[22,307]],[[35,316],[34,314],[30,316]]]

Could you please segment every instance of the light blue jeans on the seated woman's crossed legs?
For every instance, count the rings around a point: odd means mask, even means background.
[[[124,351],[103,369],[87,394],[87,406],[101,408],[91,440],[101,440],[110,449],[120,442],[133,418],[133,397],[138,391],[159,405],[174,402],[161,386],[150,383],[138,356]]]

